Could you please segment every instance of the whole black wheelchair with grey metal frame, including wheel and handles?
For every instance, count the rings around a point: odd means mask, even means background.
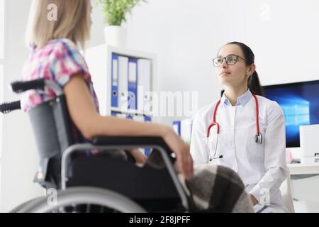
[[[34,182],[50,195],[26,201],[13,212],[189,212],[191,201],[174,170],[172,150],[158,137],[97,136],[89,143],[74,143],[71,119],[63,90],[46,79],[11,83],[13,92],[21,94],[50,88],[55,99],[45,101],[28,112],[38,148],[40,163]],[[20,101],[0,105],[3,114],[21,109]],[[132,148],[152,148],[164,168],[138,167],[132,161],[112,155]],[[52,198],[51,198],[52,199]]]

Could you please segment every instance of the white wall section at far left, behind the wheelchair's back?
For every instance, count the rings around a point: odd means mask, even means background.
[[[4,100],[16,101],[8,84],[20,78],[21,67],[28,57],[23,40],[28,18],[30,0],[6,1]],[[22,111],[12,112],[3,118],[1,201],[0,211],[9,211],[13,206],[43,194],[33,183],[38,165],[35,142],[28,116]]]

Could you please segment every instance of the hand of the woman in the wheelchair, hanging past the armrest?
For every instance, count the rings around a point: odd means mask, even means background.
[[[193,175],[193,159],[189,145],[186,145],[172,128],[167,128],[163,139],[177,157],[177,172],[184,174],[186,179],[191,177]]]

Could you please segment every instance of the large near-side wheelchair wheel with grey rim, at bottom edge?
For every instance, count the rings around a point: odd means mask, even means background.
[[[128,197],[96,187],[69,187],[65,191],[57,192],[57,199],[54,204],[48,204],[47,201],[48,197],[35,200],[19,209],[18,213],[68,212],[70,207],[92,205],[123,213],[146,212],[142,206]],[[74,210],[71,212],[74,212]]]

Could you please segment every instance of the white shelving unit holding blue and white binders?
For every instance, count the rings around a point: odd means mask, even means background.
[[[147,91],[145,92],[153,91],[154,78],[157,77],[157,55],[127,48],[118,48],[111,45],[99,45],[89,48],[84,52],[84,55],[89,71],[91,72],[96,96],[99,99],[99,111],[101,115],[114,116],[113,114],[115,114],[118,118],[128,118],[134,121],[154,121],[154,115],[152,114],[152,96],[146,95],[143,92],[141,94],[140,91],[142,91],[144,87],[147,87]],[[117,60],[113,60],[113,55],[118,57]],[[123,59],[125,60],[123,61]],[[133,64],[134,67],[130,65],[130,60],[136,61],[136,63],[134,62]],[[116,66],[114,66],[113,62],[116,62]],[[123,67],[123,65],[127,67],[127,69]],[[116,71],[114,71],[113,67],[116,67]],[[120,69],[121,73],[119,71]],[[112,73],[114,72],[117,74],[116,85],[114,85],[114,80],[112,80]],[[128,101],[129,93],[123,94],[123,88],[126,89],[125,92],[129,92],[129,83],[132,82],[130,80],[132,79],[130,77],[130,72],[136,72],[136,78],[135,74],[133,75],[133,78],[135,78],[135,82],[137,83],[137,91],[135,91],[135,109],[126,108],[130,107],[130,105],[125,103]],[[123,79],[123,74],[127,78],[124,77],[125,79]],[[147,82],[147,84],[143,84],[144,82]],[[122,86],[123,84],[125,86]],[[118,86],[117,92],[114,92],[114,86]],[[116,93],[116,95],[114,95],[114,93]],[[113,101],[114,99],[117,100],[118,106],[112,106],[112,96]],[[114,98],[114,96],[116,96],[116,98]],[[145,96],[147,96],[147,98],[145,98]],[[118,97],[123,97],[123,99],[120,100]],[[149,108],[145,107],[145,103],[149,104]],[[141,149],[141,152],[147,155],[150,153],[150,148]]]

